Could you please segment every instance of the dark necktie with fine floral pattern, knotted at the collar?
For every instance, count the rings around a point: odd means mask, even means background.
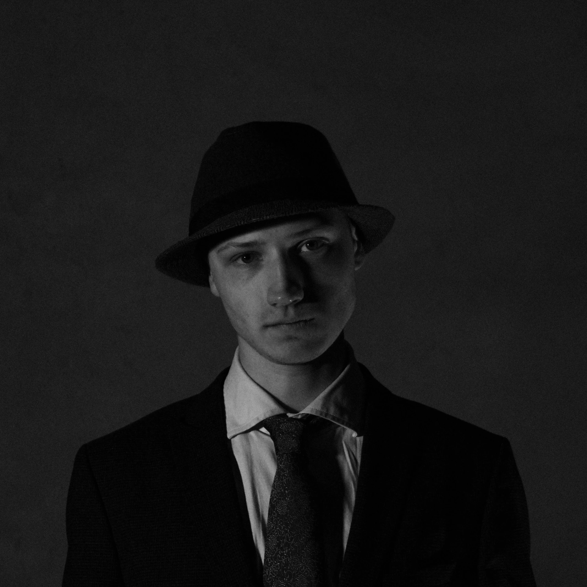
[[[318,498],[302,452],[306,422],[282,414],[262,424],[271,434],[277,457],[269,498],[263,585],[322,587]]]

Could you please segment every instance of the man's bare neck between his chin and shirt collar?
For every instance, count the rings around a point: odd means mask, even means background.
[[[238,337],[238,355],[249,377],[291,412],[312,403],[339,375],[347,363],[342,333],[320,357],[301,365],[272,363]]]

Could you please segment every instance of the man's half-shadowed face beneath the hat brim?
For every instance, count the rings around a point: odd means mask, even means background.
[[[340,210],[307,214],[215,246],[208,253],[210,290],[257,353],[273,363],[308,363],[353,313],[363,258]]]

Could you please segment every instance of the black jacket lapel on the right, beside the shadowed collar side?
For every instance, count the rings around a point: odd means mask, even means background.
[[[366,383],[365,436],[340,587],[376,585],[393,556],[419,454],[419,439],[396,398],[360,365]]]

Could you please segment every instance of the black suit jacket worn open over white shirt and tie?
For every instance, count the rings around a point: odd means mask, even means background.
[[[360,367],[365,437],[340,586],[534,586],[510,443]],[[65,587],[262,585],[226,434],[227,373],[80,448]]]

